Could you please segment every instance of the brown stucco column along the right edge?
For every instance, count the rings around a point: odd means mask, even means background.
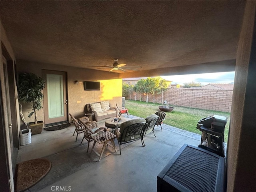
[[[227,150],[227,191],[255,191],[256,2],[247,1],[238,50]]]

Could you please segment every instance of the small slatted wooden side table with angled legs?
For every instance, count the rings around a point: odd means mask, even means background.
[[[102,139],[101,137],[104,137],[105,140]],[[106,148],[106,145],[107,145],[108,141],[111,141],[111,143],[113,145],[113,146],[111,146],[111,145],[108,145],[108,146],[112,147],[117,152],[116,146],[115,146],[115,143],[114,143],[114,138],[116,138],[116,135],[110,133],[109,131],[106,131],[106,132],[104,132],[102,134],[98,134],[96,136],[93,136],[92,138],[94,139],[94,143],[93,143],[93,146],[92,146],[92,151],[94,151],[100,157],[99,161],[102,158],[102,154],[103,154],[103,152],[104,152],[104,150]],[[104,143],[100,154],[96,150],[94,150],[94,146],[95,146],[96,142],[99,143],[99,144],[100,143]]]

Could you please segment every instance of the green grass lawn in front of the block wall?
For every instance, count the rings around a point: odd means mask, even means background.
[[[162,104],[158,103],[146,103],[134,100],[125,100],[125,107],[128,108],[129,114],[146,118],[147,116],[154,114],[157,112],[158,106]],[[201,132],[196,128],[196,124],[202,118],[211,115],[221,115],[228,117],[228,122],[225,126],[224,132],[224,141],[228,141],[228,128],[229,128],[229,120],[230,120],[230,113],[228,112],[220,112],[220,111],[212,111],[212,110],[202,110],[202,109],[193,109],[193,108],[186,108],[186,107],[178,107],[173,106],[174,110],[172,112],[165,112],[165,120],[164,124],[174,126],[183,130],[187,130],[189,132],[201,134]]]

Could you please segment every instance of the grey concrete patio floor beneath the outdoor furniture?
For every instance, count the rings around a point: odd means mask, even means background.
[[[136,118],[131,116],[131,118]],[[104,126],[104,121],[99,122],[99,126]],[[119,152],[117,141],[115,152],[112,148],[106,147],[100,162],[94,152],[90,153],[92,143],[90,143],[89,153],[87,150],[87,141],[80,145],[83,134],[74,136],[74,126],[58,131],[45,131],[42,134],[32,136],[32,143],[21,146],[18,151],[17,163],[34,158],[44,158],[52,154],[59,154],[70,149],[82,147],[86,156],[92,157],[91,162],[85,168],[82,168],[60,180],[40,188],[39,182],[26,192],[40,191],[51,192],[72,191],[72,192],[137,192],[137,191],[156,191],[157,175],[178,152],[183,144],[198,146],[200,144],[200,135],[180,130],[172,126],[162,125],[155,127],[155,134],[150,134],[144,138],[146,144],[142,147],[141,141],[130,143]],[[195,126],[196,128],[196,126]],[[111,132],[111,129],[108,129]],[[98,150],[102,145],[96,144]],[[97,149],[96,148],[96,149]],[[68,158],[73,158],[72,156]],[[62,164],[65,164],[63,159]],[[54,164],[52,164],[52,169]],[[74,165],[75,166],[75,165]],[[40,181],[44,182],[44,178]],[[63,190],[64,189],[64,190]]]

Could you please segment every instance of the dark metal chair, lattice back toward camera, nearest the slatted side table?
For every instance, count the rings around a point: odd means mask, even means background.
[[[115,125],[115,134],[119,143],[120,155],[121,155],[121,144],[133,142],[141,139],[143,130],[148,126],[145,119],[131,119],[123,122],[118,131],[118,126]],[[143,143],[142,143],[143,146]]]

